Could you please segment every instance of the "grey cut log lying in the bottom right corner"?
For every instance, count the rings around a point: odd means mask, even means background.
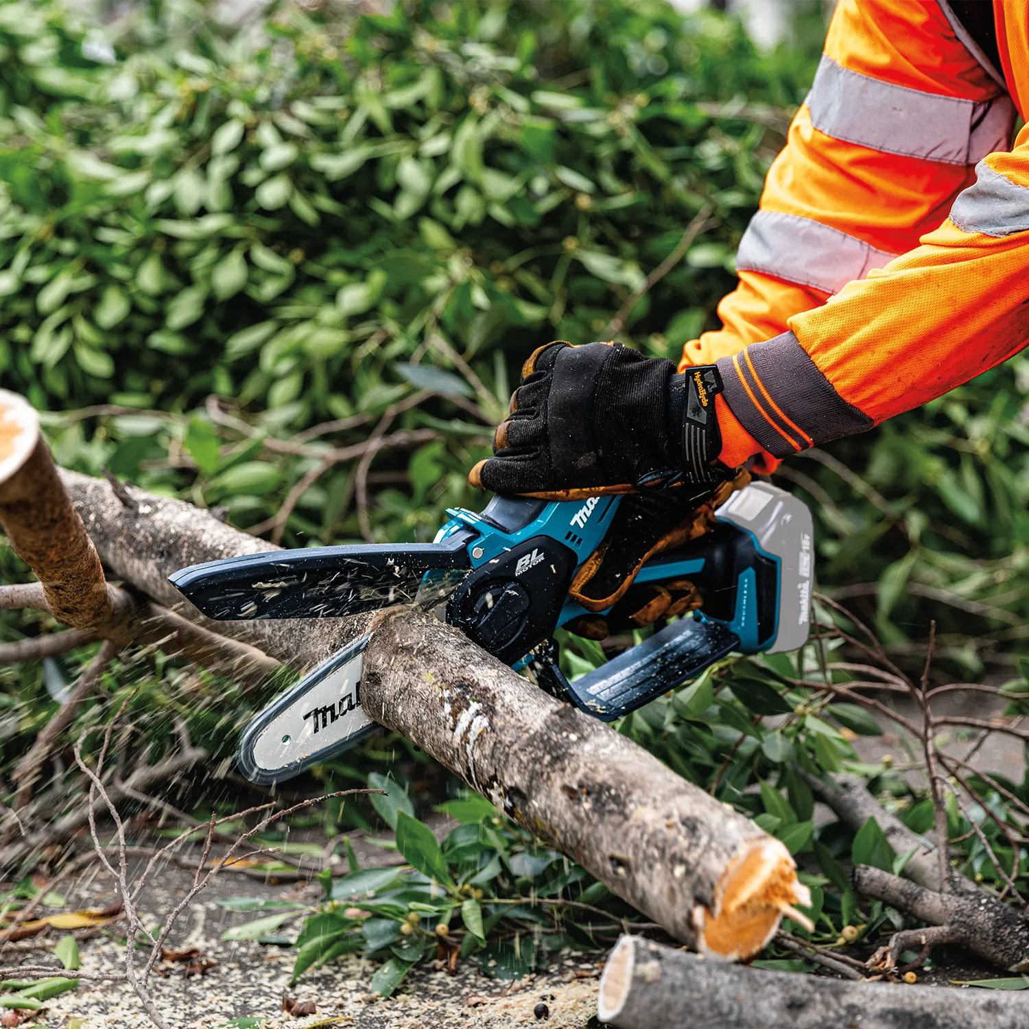
[[[999,990],[854,983],[745,968],[640,936],[604,966],[598,1016],[618,1029],[1026,1029],[1029,1003]]]

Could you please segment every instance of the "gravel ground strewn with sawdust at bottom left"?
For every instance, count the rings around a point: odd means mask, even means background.
[[[433,825],[438,835],[450,826]],[[363,867],[395,863],[395,853],[355,840]],[[192,885],[192,875],[166,866],[152,888],[144,893],[140,910],[147,925],[156,924]],[[62,888],[72,909],[104,908],[117,899],[114,882],[105,872],[85,871]],[[295,952],[288,947],[250,941],[225,943],[221,935],[233,925],[261,917],[259,912],[234,912],[220,907],[219,898],[253,896],[313,901],[321,887],[313,882],[263,882],[222,873],[179,918],[169,936],[175,950],[197,949],[217,962],[203,974],[184,974],[182,962],[159,962],[151,981],[158,1010],[173,1029],[216,1029],[229,1020],[267,1018],[262,1029],[304,1029],[339,1024],[355,1029],[501,1029],[508,1026],[545,1025],[548,1029],[584,1029],[596,1013],[601,955],[572,955],[519,983],[490,979],[474,962],[463,963],[455,974],[425,965],[415,969],[387,1000],[370,996],[371,977],[378,962],[349,957],[316,972],[305,974],[289,987]],[[284,927],[284,931],[288,929]],[[88,931],[96,930],[86,930]],[[93,938],[80,939],[82,970],[120,971],[125,960],[125,922],[105,927]],[[60,934],[52,933],[55,938]],[[79,934],[81,935],[81,933]],[[38,963],[38,954],[26,955]],[[6,963],[6,962],[5,962]],[[314,1001],[314,1015],[296,1018],[283,1013],[284,996]],[[547,1007],[545,1019],[534,1009]],[[336,1020],[336,1021],[333,1021]],[[33,1020],[24,1023],[33,1024]],[[142,1029],[152,1023],[127,983],[82,982],[74,992],[55,997],[35,1017],[40,1029]]]

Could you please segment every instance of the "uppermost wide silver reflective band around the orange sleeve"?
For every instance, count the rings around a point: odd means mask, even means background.
[[[807,99],[811,123],[833,139],[948,165],[973,165],[1008,148],[1008,97],[962,100],[924,93],[844,68],[822,57]]]

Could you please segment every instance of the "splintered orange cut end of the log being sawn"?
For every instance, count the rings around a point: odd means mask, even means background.
[[[726,961],[746,960],[764,949],[783,915],[803,920],[793,904],[809,907],[811,891],[799,882],[792,856],[772,837],[755,840],[730,862],[713,908],[694,909],[697,949]]]

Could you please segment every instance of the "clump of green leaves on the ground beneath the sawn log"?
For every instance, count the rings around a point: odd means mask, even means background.
[[[369,787],[372,778],[380,777],[369,776]],[[294,980],[355,952],[383,962],[371,983],[383,996],[418,961],[451,952],[497,979],[520,979],[545,952],[599,949],[615,938],[623,919],[638,918],[482,797],[449,801],[439,810],[461,822],[441,843],[424,822],[397,813],[396,847],[409,864],[325,881],[325,899],[296,938]],[[226,938],[257,938],[268,921],[236,926]]]

